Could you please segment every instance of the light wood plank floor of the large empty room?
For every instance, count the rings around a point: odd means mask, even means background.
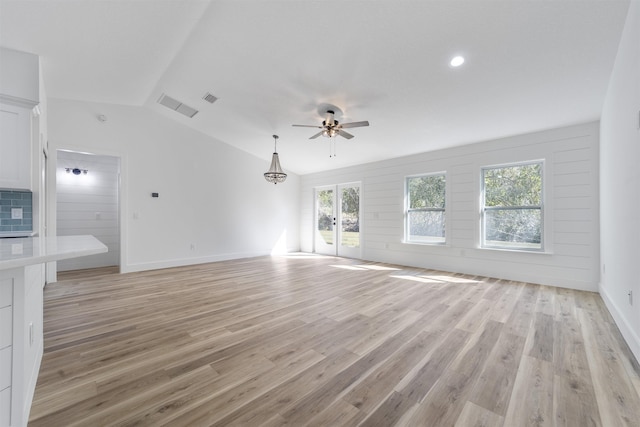
[[[30,426],[638,426],[598,294],[297,254],[45,289]]]

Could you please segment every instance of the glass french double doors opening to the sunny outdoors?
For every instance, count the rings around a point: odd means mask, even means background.
[[[315,252],[360,258],[360,184],[315,189]]]

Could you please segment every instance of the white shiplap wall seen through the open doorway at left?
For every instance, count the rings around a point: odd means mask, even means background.
[[[118,223],[117,157],[57,151],[56,171],[58,236],[91,234],[104,243],[108,252],[58,262],[58,271],[106,267],[120,264]],[[73,175],[65,168],[88,169]]]

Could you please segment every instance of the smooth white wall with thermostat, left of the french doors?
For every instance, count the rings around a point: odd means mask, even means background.
[[[120,157],[124,272],[299,249],[296,175],[147,108],[50,99],[49,141]]]

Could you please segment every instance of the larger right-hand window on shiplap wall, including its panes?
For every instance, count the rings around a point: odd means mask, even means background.
[[[483,247],[542,250],[542,162],[482,169]]]

